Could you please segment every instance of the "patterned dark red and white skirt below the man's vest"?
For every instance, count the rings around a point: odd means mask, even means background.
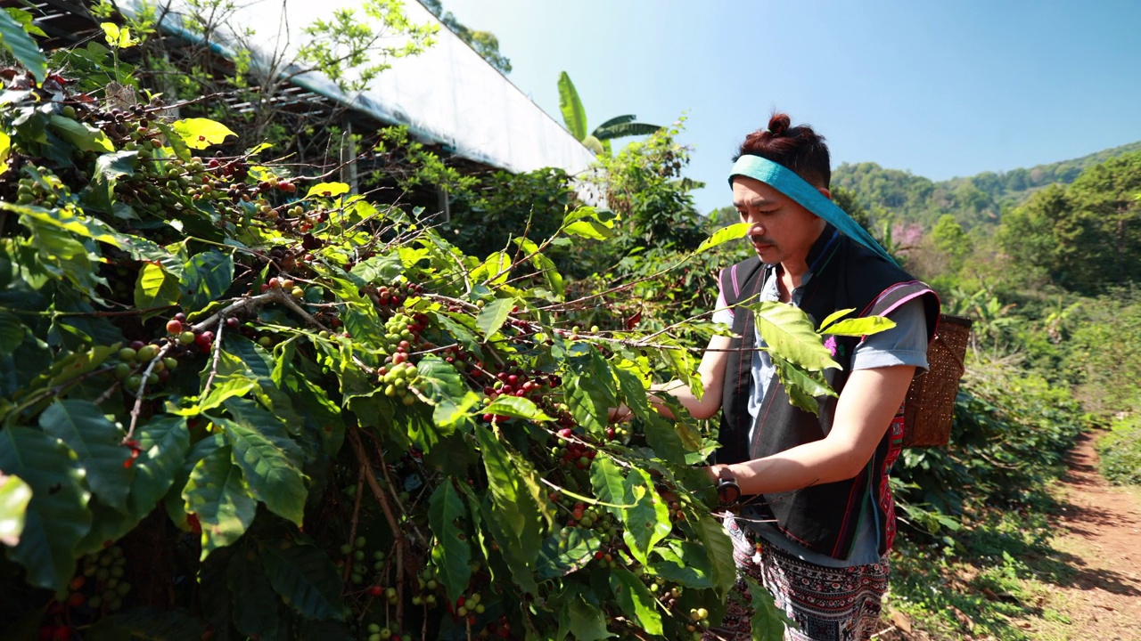
[[[865,641],[876,630],[883,594],[888,591],[888,554],[880,562],[850,568],[826,568],[802,561],[755,537],[733,516],[725,520],[737,565],[734,587],[719,627],[706,641],[748,641],[753,610],[743,576],[763,585],[777,609],[796,623],[785,628],[786,641]]]

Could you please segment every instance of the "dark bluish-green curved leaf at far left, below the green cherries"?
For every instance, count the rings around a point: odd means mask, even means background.
[[[122,446],[123,431],[97,405],[87,400],[57,400],[40,414],[40,428],[67,444],[79,456],[87,482],[103,504],[127,511],[133,470],[123,463],[130,460],[130,449]]]

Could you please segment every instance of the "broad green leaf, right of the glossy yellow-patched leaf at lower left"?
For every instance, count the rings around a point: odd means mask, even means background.
[[[270,512],[302,525],[305,474],[298,469],[304,459],[285,427],[257,403],[242,398],[226,401],[234,420],[210,420],[220,425],[234,448],[234,463],[242,468],[250,494]]]

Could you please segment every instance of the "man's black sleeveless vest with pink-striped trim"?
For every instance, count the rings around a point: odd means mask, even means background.
[[[926,311],[928,340],[934,335],[939,316],[939,301],[925,284],[867,248],[840,234],[831,225],[825,228],[809,251],[812,277],[804,285],[800,308],[814,323],[819,323],[839,309],[853,308],[858,316],[883,315],[903,302],[922,297]],[[762,268],[763,267],[763,268]],[[760,294],[771,267],[762,266],[759,258],[723,269],[721,291],[729,305],[755,299]],[[755,347],[753,313],[738,307],[734,313],[733,333],[726,364],[725,390],[721,400],[722,417],[718,463],[739,463],[784,452],[798,445],[827,436],[835,413],[836,398],[818,397],[819,416],[788,403],[788,396],[774,375],[761,408],[758,412],[753,441],[748,441],[752,427],[748,398],[752,386],[752,350]],[[825,378],[839,393],[851,365],[852,350],[860,339],[835,336],[833,357],[841,368],[827,370]],[[776,519],[778,528],[798,544],[835,559],[847,559],[851,552],[864,502],[873,482],[881,482],[888,473],[890,435],[885,433],[872,459],[856,477],[806,487],[803,489],[764,494],[754,500],[742,516]],[[873,502],[874,518],[880,532],[884,521],[893,518],[885,513],[879,501]],[[865,517],[866,518],[866,517]],[[887,552],[885,537],[881,537],[880,553]]]

